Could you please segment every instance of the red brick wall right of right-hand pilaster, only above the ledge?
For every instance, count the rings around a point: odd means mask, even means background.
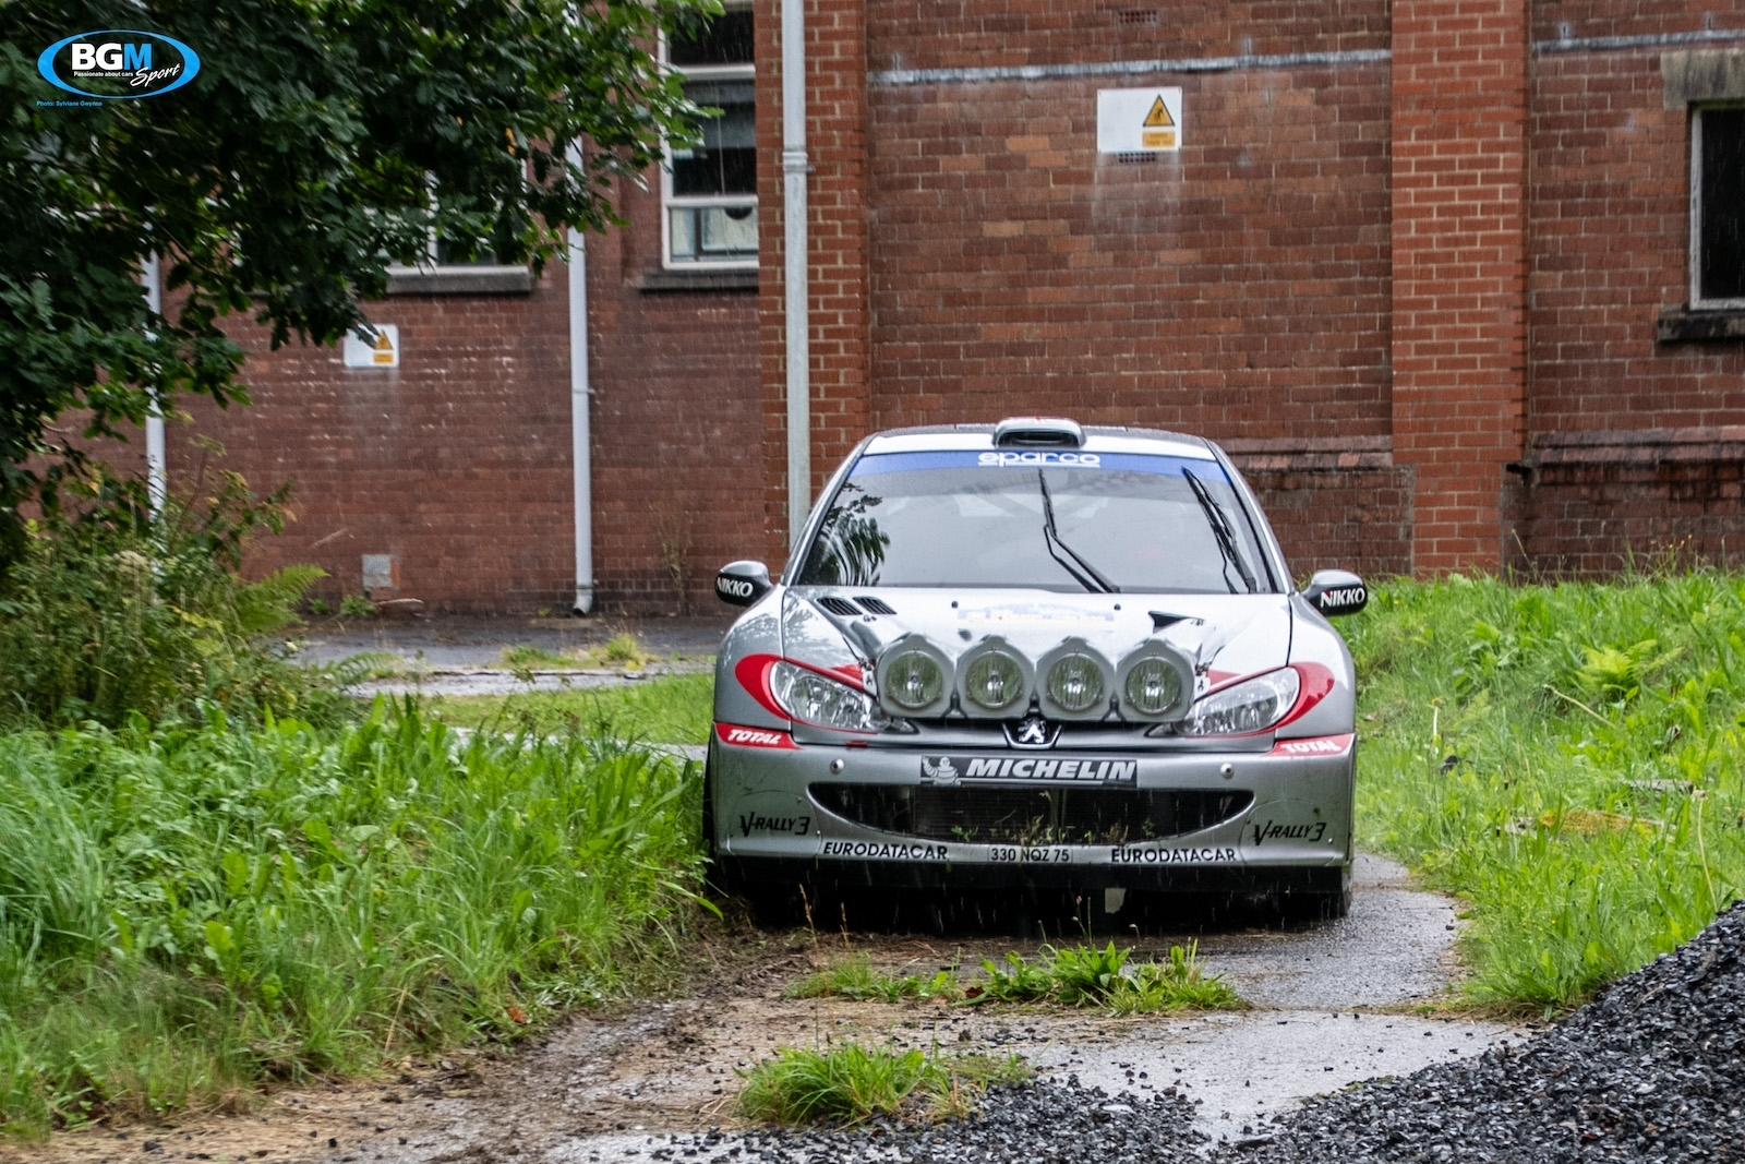
[[[1546,3],[1534,37],[1560,24],[1572,37],[1696,31],[1710,17],[1745,26],[1745,3],[1712,7]],[[1745,424],[1745,342],[1654,340],[1659,309],[1689,298],[1687,122],[1663,108],[1659,49],[1534,58],[1536,433]]]

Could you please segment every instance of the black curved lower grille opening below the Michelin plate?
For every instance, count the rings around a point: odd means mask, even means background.
[[[813,784],[825,811],[881,832],[982,845],[1129,845],[1239,817],[1253,792]]]

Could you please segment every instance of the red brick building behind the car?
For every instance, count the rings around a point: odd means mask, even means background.
[[[398,368],[262,353],[199,410],[297,482],[263,564],[564,609],[581,529],[602,607],[707,602],[784,557],[792,382],[813,490],[871,429],[1047,412],[1222,442],[1304,574],[1738,560],[1745,0],[1136,2],[804,0],[804,155],[782,0],[729,7],[668,47],[722,117],[585,277],[407,272]],[[1180,91],[1169,145],[1099,148],[1105,91]]]

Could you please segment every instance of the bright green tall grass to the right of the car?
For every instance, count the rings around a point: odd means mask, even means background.
[[[1471,900],[1471,991],[1569,1005],[1745,888],[1745,579],[1380,588],[1359,839]]]

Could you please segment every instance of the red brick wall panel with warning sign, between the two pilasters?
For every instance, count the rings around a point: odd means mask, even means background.
[[[1382,3],[869,3],[874,70],[1386,47]],[[1096,152],[1181,86],[1185,148]],[[876,421],[1387,433],[1387,66],[872,87]]]

